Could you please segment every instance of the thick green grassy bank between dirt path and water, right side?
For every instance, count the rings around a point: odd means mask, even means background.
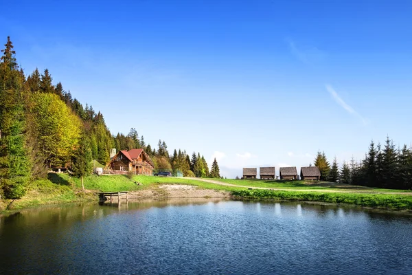
[[[237,190],[232,195],[236,199],[274,199],[280,201],[319,201],[325,203],[345,203],[355,206],[412,210],[412,196],[383,195],[369,193],[339,192],[299,192],[276,190]]]

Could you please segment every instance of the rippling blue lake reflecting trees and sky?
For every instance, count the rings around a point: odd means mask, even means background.
[[[412,274],[412,216],[306,203],[135,201],[0,216],[2,274]]]

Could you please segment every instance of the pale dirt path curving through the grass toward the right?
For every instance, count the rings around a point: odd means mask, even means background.
[[[194,179],[198,181],[205,181],[209,184],[219,184],[222,186],[231,186],[231,187],[244,187],[244,188],[253,188],[260,190],[279,190],[279,191],[301,191],[301,192],[339,192],[339,193],[368,193],[368,194],[386,194],[386,195],[412,195],[412,192],[376,192],[370,190],[330,190],[330,189],[295,189],[295,188],[266,188],[266,187],[257,187],[257,186],[244,186],[236,184],[227,184],[226,182],[216,181],[213,179],[203,179],[201,177],[188,177],[188,179]]]

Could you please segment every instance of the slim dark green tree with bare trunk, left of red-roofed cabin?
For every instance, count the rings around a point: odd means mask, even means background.
[[[80,177],[82,180],[82,190],[84,192],[83,177],[91,173],[93,169],[92,154],[89,138],[83,136],[80,140],[80,144],[76,149],[73,157],[71,157],[71,170],[75,177]]]

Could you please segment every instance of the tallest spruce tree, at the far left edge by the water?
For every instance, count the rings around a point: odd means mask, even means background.
[[[24,79],[8,37],[0,62],[0,188],[6,199],[25,195],[31,164],[25,135]]]

